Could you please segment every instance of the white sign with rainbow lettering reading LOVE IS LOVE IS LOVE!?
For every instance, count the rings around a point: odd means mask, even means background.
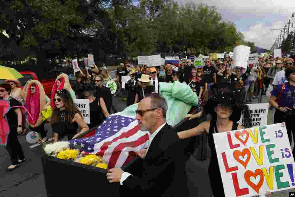
[[[285,123],[213,133],[225,196],[295,188]]]

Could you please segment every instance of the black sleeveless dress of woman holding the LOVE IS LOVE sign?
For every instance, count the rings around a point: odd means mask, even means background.
[[[238,125],[239,125],[238,123],[232,122],[231,131],[237,130]],[[208,133],[208,144],[211,149],[211,159],[210,159],[208,172],[209,172],[210,185],[211,185],[211,189],[212,189],[212,193],[214,197],[217,197],[217,196],[224,197],[223,184],[222,184],[222,179],[221,179],[219,165],[218,165],[213,133],[218,133],[217,127],[216,127],[216,120],[210,121],[210,128]]]

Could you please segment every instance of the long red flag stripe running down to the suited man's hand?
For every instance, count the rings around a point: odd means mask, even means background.
[[[119,156],[125,147],[134,148],[134,147],[140,146],[141,144],[144,144],[148,139],[149,139],[148,134],[145,134],[144,136],[141,136],[136,141],[120,143],[118,146],[116,146],[112,152],[110,159],[109,159],[109,165],[108,165],[109,169],[115,167],[115,165],[119,159]]]

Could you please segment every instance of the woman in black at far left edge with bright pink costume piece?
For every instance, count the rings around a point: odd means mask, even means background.
[[[7,152],[9,153],[11,159],[11,165],[6,168],[7,171],[12,171],[19,167],[19,164],[24,162],[26,159],[22,151],[22,146],[19,144],[17,138],[17,133],[22,133],[22,112],[19,109],[21,103],[16,99],[9,96],[11,92],[11,87],[9,84],[0,84],[0,97],[1,109],[5,108],[6,102],[9,102],[9,111],[5,114],[1,114],[1,118],[8,123],[8,127],[1,125],[1,129],[7,129],[6,131],[1,131],[1,133],[6,136],[1,136],[0,145],[4,145]],[[2,110],[5,111],[5,110]],[[3,121],[3,120],[2,120]],[[1,121],[1,124],[3,123]],[[9,133],[8,133],[9,132]],[[8,133],[8,135],[7,135]],[[3,140],[7,139],[7,143],[3,143]]]

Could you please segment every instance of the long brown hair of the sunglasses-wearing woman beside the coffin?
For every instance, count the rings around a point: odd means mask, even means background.
[[[62,99],[62,101],[65,103],[65,112],[66,112],[65,121],[72,123],[76,113],[78,113],[79,115],[81,115],[81,117],[83,117],[79,109],[74,105],[73,99],[68,90],[61,89],[55,92],[55,95],[59,96]],[[53,109],[52,117],[50,120],[50,124],[52,125],[56,124],[60,120],[59,112],[60,112],[60,109],[57,108],[54,103],[54,109]]]

